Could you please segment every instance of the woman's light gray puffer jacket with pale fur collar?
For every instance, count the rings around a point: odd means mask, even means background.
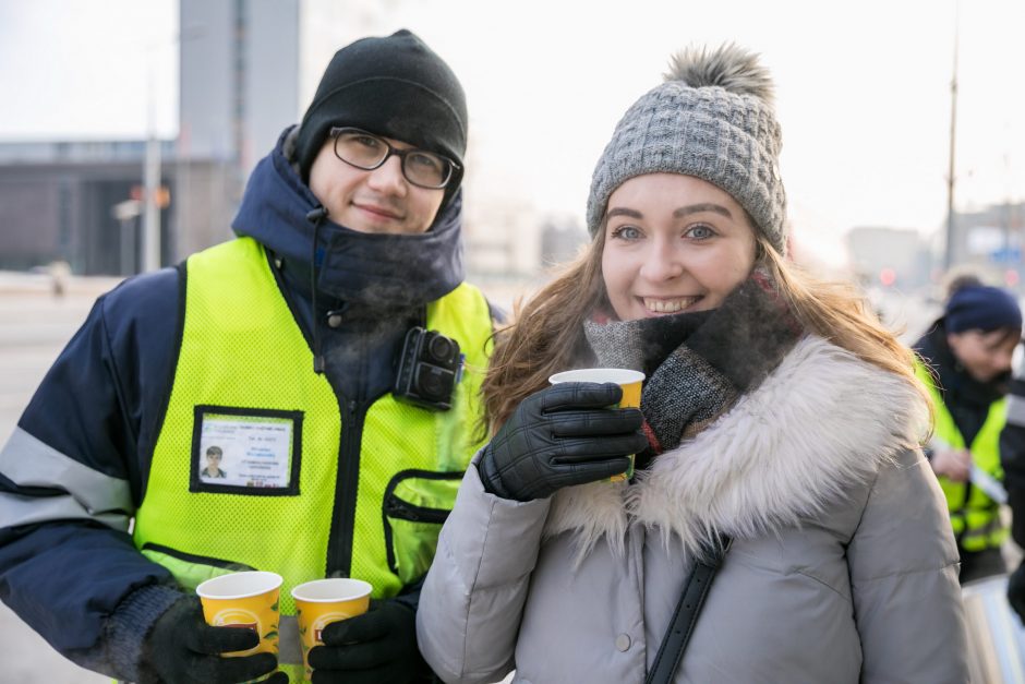
[[[694,554],[733,547],[676,682],[967,682],[957,549],[920,400],[807,337],[632,484],[518,503],[475,468],[418,613],[446,682],[641,684]]]

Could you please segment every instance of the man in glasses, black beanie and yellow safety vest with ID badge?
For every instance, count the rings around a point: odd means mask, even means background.
[[[236,239],[99,298],[0,449],[0,596],[59,652],[135,682],[299,681],[290,589],[373,586],[314,682],[433,676],[422,579],[480,446],[499,315],[463,281],[462,87],[418,36],[331,59],[255,168]],[[216,453],[217,477],[206,455]],[[279,657],[194,589],[278,573]]]

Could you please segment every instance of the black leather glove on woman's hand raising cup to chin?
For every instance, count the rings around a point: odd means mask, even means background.
[[[648,446],[636,408],[608,408],[623,397],[614,383],[559,383],[530,395],[484,447],[484,489],[516,501],[626,472]]]

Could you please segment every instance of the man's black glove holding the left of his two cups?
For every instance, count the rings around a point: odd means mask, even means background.
[[[278,667],[273,653],[240,658],[219,653],[244,651],[258,643],[260,636],[252,629],[209,626],[200,599],[189,597],[157,619],[144,644],[140,682],[232,684],[255,680]],[[288,684],[288,675],[277,672],[266,683]]]

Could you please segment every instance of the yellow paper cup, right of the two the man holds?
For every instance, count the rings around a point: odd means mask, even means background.
[[[365,613],[373,589],[370,583],[350,577],[314,579],[292,589],[302,641],[302,667],[308,681],[313,675],[308,656],[311,648],[324,643],[321,638],[324,627]]]

